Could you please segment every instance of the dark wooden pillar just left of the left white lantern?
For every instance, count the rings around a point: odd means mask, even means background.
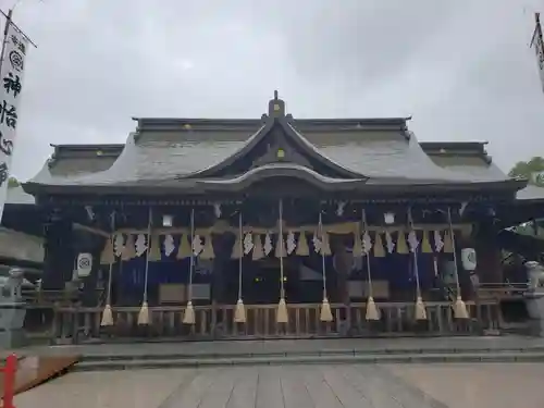
[[[70,220],[53,211],[45,227],[45,257],[41,287],[62,290],[74,271],[73,230]]]

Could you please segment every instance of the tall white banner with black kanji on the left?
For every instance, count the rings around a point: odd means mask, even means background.
[[[13,148],[16,141],[18,107],[23,90],[27,38],[7,22],[8,30],[0,69],[0,220],[8,196]]]

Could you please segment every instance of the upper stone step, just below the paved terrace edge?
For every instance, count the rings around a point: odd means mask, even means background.
[[[126,360],[217,360],[245,358],[283,358],[283,357],[335,357],[335,356],[405,356],[405,355],[456,355],[456,354],[544,354],[544,347],[531,348],[392,348],[392,349],[330,349],[330,350],[288,350],[288,351],[257,351],[257,353],[197,353],[197,354],[97,354],[83,355],[84,362],[126,361]]]

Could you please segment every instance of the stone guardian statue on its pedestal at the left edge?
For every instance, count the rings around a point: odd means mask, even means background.
[[[26,309],[21,295],[23,270],[12,269],[0,288],[0,347],[14,348],[26,345],[23,329]]]

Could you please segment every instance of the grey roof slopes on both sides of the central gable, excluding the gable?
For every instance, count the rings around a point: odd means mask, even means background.
[[[190,120],[183,121],[190,122]],[[297,134],[308,147],[363,177],[384,181],[398,178],[404,183],[496,182],[508,178],[489,163],[474,166],[463,164],[459,168],[455,163],[437,165],[423,151],[415,135],[406,129],[405,122],[398,119],[392,121],[394,123],[390,124],[386,120],[381,122],[323,120],[292,123],[294,129],[300,132]],[[262,122],[250,121],[240,128],[232,125],[226,131],[212,126],[212,120],[205,124],[208,126],[206,129],[198,131],[198,126],[203,124],[197,123],[191,131],[187,131],[182,127],[172,129],[174,125],[170,124],[170,127],[160,129],[160,120],[153,120],[152,129],[146,129],[145,124],[141,126],[140,123],[138,133],[128,137],[122,153],[113,163],[107,162],[106,158],[97,159],[95,154],[92,160],[96,162],[89,161],[89,164],[83,166],[85,169],[77,169],[77,161],[82,163],[90,159],[67,157],[62,159],[65,161],[63,165],[73,171],[59,171],[54,166],[50,169],[46,165],[30,182],[48,185],[131,185],[186,177],[235,154],[251,138],[257,137],[262,128],[255,128],[251,136],[248,128],[262,126]],[[113,161],[112,156],[108,156],[107,159]],[[92,171],[89,168],[92,168]]]

